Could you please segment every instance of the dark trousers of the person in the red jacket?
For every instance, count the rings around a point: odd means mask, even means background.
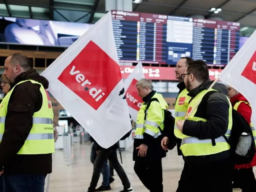
[[[256,192],[256,180],[252,168],[236,169],[233,181],[242,192]]]

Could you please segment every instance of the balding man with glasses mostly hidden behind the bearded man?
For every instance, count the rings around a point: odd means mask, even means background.
[[[191,99],[191,97],[187,95],[188,91],[185,87],[184,80],[182,79],[182,74],[185,73],[188,63],[191,61],[193,61],[193,59],[190,57],[181,57],[180,60],[178,60],[176,66],[174,67],[176,79],[180,80],[180,83],[177,85],[179,92],[175,102],[175,121],[184,119],[185,112],[188,107],[188,102]],[[174,127],[174,134],[177,137],[178,155],[182,155],[180,151],[182,133],[177,129],[176,126]],[[167,143],[168,143],[168,138],[164,137],[162,140],[162,147],[165,150],[167,150]],[[190,191],[189,189],[190,186],[188,185],[189,179],[187,178],[187,171],[188,171],[188,165],[185,162],[184,168],[181,173],[180,181],[178,182],[178,188],[176,192]]]

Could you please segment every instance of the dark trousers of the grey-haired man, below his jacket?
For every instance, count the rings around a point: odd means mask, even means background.
[[[150,192],[163,192],[162,159],[139,159],[134,164],[135,173]]]

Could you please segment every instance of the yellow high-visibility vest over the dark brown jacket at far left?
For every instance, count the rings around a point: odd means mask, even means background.
[[[0,138],[2,139],[5,128],[5,116],[8,110],[8,102],[16,86],[30,81],[39,84],[39,91],[42,94],[42,106],[38,112],[33,114],[33,124],[25,143],[17,154],[49,154],[54,153],[54,133],[53,133],[53,110],[49,100],[49,95],[42,86],[34,80],[25,80],[17,83],[10,92],[5,95],[0,103]],[[1,142],[1,141],[0,141]]]

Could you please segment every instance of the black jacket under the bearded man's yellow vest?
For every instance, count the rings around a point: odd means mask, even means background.
[[[212,81],[207,80],[200,86],[191,90],[188,95],[193,99],[202,90],[208,89],[211,83]],[[218,89],[218,85],[214,88]],[[227,97],[219,92],[211,94],[208,98],[207,106],[199,104],[195,116],[205,118],[207,121],[185,120],[182,131],[183,134],[199,139],[215,139],[225,135],[229,123],[229,102]],[[212,162],[229,156],[229,151],[223,151],[213,155],[187,156],[184,157],[184,160],[188,162]]]

